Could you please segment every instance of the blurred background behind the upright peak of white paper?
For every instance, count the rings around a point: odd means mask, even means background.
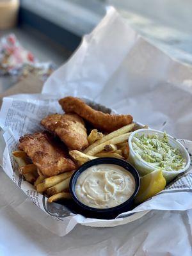
[[[29,73],[45,81],[109,6],[172,58],[192,63],[190,0],[0,0],[0,93]]]

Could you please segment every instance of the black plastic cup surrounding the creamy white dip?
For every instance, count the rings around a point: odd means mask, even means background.
[[[81,173],[84,172],[90,166],[98,165],[98,164],[116,164],[118,166],[122,166],[125,170],[129,171],[134,177],[135,184],[136,184],[134,193],[123,204],[120,204],[108,209],[98,209],[98,208],[89,207],[88,205],[84,205],[77,198],[75,187],[76,187],[76,182],[79,175],[81,175]],[[138,193],[139,188],[140,188],[140,175],[138,174],[136,169],[131,164],[127,163],[127,161],[113,158],[113,157],[101,157],[98,159],[93,159],[91,161],[88,161],[87,163],[84,163],[72,175],[70,179],[70,185],[69,185],[70,193],[74,200],[74,207],[75,207],[74,211],[76,213],[82,214],[83,216],[88,218],[107,219],[107,220],[111,220],[116,216],[118,216],[118,214],[132,209],[133,199],[134,199],[134,196],[136,196],[136,194]]]

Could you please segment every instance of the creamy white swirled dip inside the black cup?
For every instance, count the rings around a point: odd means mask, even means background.
[[[98,164],[85,170],[76,182],[76,195],[81,203],[106,209],[123,204],[135,189],[130,172],[116,164]]]

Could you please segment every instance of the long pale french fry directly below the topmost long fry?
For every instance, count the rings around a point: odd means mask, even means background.
[[[92,150],[89,150],[88,152],[86,152],[87,155],[90,156],[95,156],[95,154],[99,153],[100,151],[104,150],[104,147],[108,144],[118,144],[121,142],[124,142],[126,140],[128,140],[129,136],[131,135],[131,132],[127,132],[125,134],[122,134],[120,136],[117,136],[111,140],[108,140],[100,145],[97,145],[96,147],[93,147]]]

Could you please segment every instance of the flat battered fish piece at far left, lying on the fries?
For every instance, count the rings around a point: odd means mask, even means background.
[[[19,139],[19,149],[24,150],[33,163],[45,176],[72,171],[76,168],[74,162],[60,144],[53,140],[49,132],[26,134]]]

